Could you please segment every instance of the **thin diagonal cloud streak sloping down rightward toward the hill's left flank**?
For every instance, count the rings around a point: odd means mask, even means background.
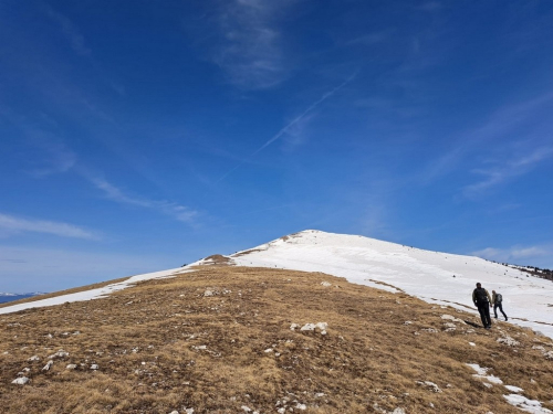
[[[105,179],[92,177],[88,173],[83,173],[83,177],[85,177],[98,190],[102,190],[104,194],[112,201],[122,204],[131,204],[144,209],[155,210],[189,225],[197,224],[199,213],[186,205],[180,205],[170,201],[148,200],[139,197],[128,195],[123,190],[113,185]]]

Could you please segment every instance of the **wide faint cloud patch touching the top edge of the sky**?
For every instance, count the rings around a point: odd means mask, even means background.
[[[292,0],[234,0],[221,9],[222,46],[215,61],[247,89],[278,85],[288,76],[278,20]]]

